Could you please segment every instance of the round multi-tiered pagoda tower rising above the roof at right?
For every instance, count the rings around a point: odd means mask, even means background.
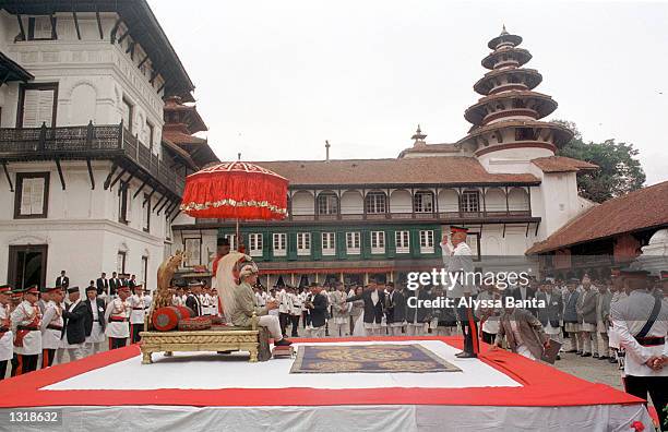
[[[524,68],[532,55],[520,44],[522,37],[508,33],[505,26],[489,41],[492,52],[482,59],[482,67],[490,71],[474,85],[484,97],[465,111],[464,118],[473,128],[457,142],[492,171],[492,157],[549,157],[573,137],[568,128],[540,121],[557,109],[557,101],[534,92],[542,76]]]

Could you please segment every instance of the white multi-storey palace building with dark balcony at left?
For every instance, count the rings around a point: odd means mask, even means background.
[[[153,285],[186,175],[217,160],[163,136],[165,100],[205,129],[193,88],[144,0],[2,2],[0,280]]]

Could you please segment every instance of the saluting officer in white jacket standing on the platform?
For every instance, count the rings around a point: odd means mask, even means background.
[[[467,284],[466,274],[474,271],[473,253],[468,244],[466,244],[466,236],[468,229],[463,227],[451,227],[452,252],[448,261],[448,272],[451,275],[456,275],[455,280],[452,280],[448,297],[453,298],[464,334],[464,350],[455,356],[462,359],[476,358],[480,352],[480,343],[478,340],[478,325],[474,316],[473,308],[460,305],[463,298],[470,298],[477,295],[477,288]],[[449,245],[449,244],[448,244]],[[449,245],[450,247],[450,245]],[[449,248],[446,248],[449,249]]]

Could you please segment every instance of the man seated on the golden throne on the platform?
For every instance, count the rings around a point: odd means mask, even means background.
[[[291,344],[283,337],[278,316],[269,315],[269,311],[278,308],[278,303],[267,301],[264,307],[255,307],[255,293],[253,286],[258,281],[258,266],[253,262],[239,264],[239,285],[234,289],[234,308],[231,310],[231,322],[238,326],[250,326],[253,312],[259,316],[259,324],[266,327],[274,338],[275,346],[288,346]]]

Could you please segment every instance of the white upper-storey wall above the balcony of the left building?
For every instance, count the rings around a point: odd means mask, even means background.
[[[141,48],[134,60],[126,52],[130,37],[122,44],[109,43],[109,34],[116,23],[116,14],[103,14],[105,38],[100,39],[94,14],[77,14],[82,40],[76,38],[71,14],[57,14],[58,40],[26,40],[13,43],[19,33],[16,17],[0,14],[0,44],[3,52],[35,75],[35,83],[58,83],[57,125],[83,125],[93,120],[96,124],[118,124],[122,117],[122,99],[134,107],[133,134],[143,143],[148,142],[146,120],[155,127],[154,143],[160,142],[164,103],[157,88],[158,79],[150,84],[151,70],[141,71],[138,64],[144,58]],[[27,28],[27,17],[24,16]],[[117,38],[124,33],[118,32]],[[0,46],[2,46],[0,45]],[[139,45],[138,45],[139,47]],[[0,93],[2,125],[14,127],[19,105],[17,84],[13,83]],[[4,99],[4,100],[3,100]],[[155,152],[159,151],[155,145]]]

